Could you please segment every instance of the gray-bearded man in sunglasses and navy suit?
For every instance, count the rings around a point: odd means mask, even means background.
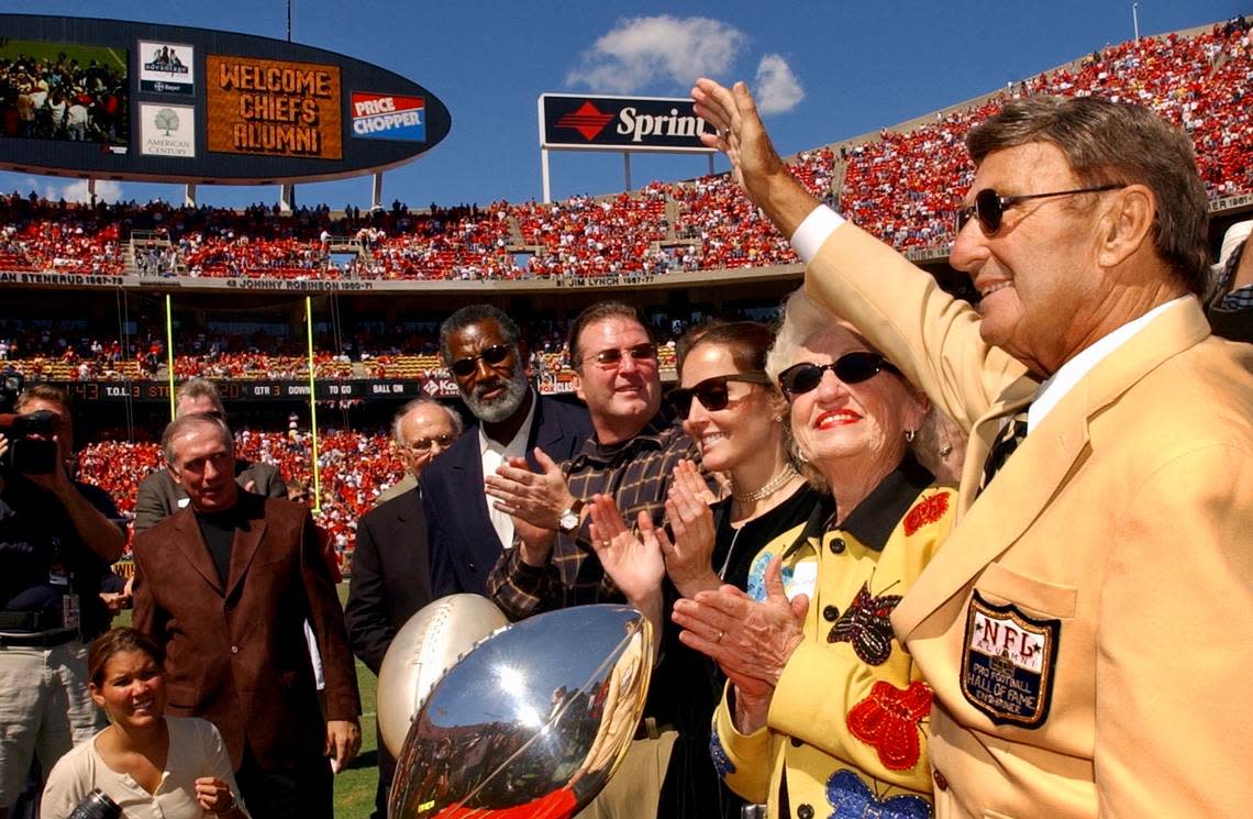
[[[526,342],[491,304],[470,304],[440,327],[440,353],[479,420],[422,473],[436,597],[487,591],[487,574],[514,545],[514,521],[485,493],[484,478],[512,458],[543,472],[591,435],[581,407],[540,396],[526,381]]]

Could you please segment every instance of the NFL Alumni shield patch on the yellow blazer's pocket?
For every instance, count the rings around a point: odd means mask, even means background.
[[[1040,728],[1049,716],[1060,620],[996,606],[979,591],[966,612],[961,693],[997,725]]]

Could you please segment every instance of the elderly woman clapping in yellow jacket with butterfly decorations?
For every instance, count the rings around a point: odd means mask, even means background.
[[[890,621],[956,508],[910,451],[927,402],[803,292],[787,302],[767,372],[836,513],[767,543],[748,592],[724,585],[674,605],[683,642],[729,679],[714,764],[771,816],[781,805],[793,816],[928,816],[931,691]]]

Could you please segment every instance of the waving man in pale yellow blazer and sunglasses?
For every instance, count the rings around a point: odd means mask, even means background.
[[[1197,298],[1187,136],[1091,98],[975,128],[951,262],[976,311],[819,205],[743,84],[693,98],[808,292],[970,432],[960,518],[892,615],[933,690],[936,815],[1243,815],[1253,348]]]

